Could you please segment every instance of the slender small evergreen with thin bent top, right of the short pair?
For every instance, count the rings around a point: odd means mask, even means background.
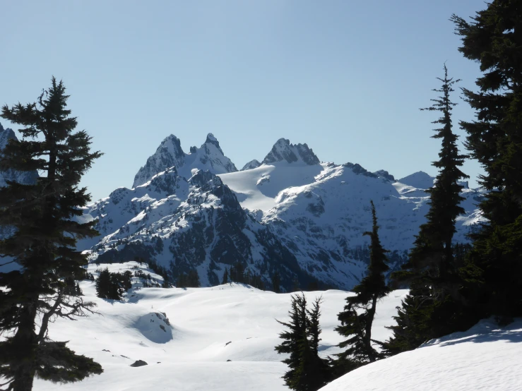
[[[347,337],[338,346],[348,349],[337,355],[340,361],[346,362],[344,365],[347,367],[364,365],[381,358],[381,354],[372,346],[372,342],[374,342],[372,324],[377,301],[390,291],[384,278],[384,273],[388,270],[388,265],[386,265],[388,251],[381,246],[375,205],[373,201],[370,203],[372,205],[372,231],[364,232],[364,235],[370,236],[368,274],[353,289],[355,296],[346,298],[347,304],[344,311],[338,314],[341,324],[335,329],[340,335]]]

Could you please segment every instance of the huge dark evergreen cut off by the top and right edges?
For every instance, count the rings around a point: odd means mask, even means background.
[[[470,235],[464,295],[477,318],[522,315],[522,18],[519,0],[493,0],[468,23],[453,15],[459,51],[480,63],[478,92],[463,89],[477,119],[461,121],[466,148],[485,170],[480,210],[487,223]]]

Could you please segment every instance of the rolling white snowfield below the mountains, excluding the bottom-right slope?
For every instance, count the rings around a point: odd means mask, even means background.
[[[100,265],[126,270],[134,262]],[[90,265],[89,271],[98,267]],[[133,270],[133,269],[131,269]],[[160,279],[160,276],[153,275]],[[55,385],[36,380],[35,390],[287,390],[281,376],[284,358],[274,351],[288,320],[290,294],[259,291],[240,284],[210,288],[133,289],[124,301],[95,296],[93,282],[81,282],[85,300],[100,315],[75,322],[57,320],[49,336],[69,340],[77,353],[93,357],[104,373],[81,383]],[[405,291],[394,291],[379,304],[374,337],[385,339],[385,325]],[[345,291],[306,292],[309,301],[323,296],[321,355],[338,352],[333,331],[343,309]],[[168,323],[165,321],[165,316]],[[148,366],[130,367],[136,360]],[[231,360],[231,361],[227,361]]]

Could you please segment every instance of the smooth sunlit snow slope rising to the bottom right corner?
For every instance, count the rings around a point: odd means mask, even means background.
[[[522,320],[499,329],[482,320],[466,332],[352,371],[321,391],[520,391]]]

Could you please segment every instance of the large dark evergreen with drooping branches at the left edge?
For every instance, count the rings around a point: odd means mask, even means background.
[[[13,227],[0,241],[0,255],[20,266],[0,272],[0,333],[9,335],[0,342],[0,377],[8,390],[31,390],[35,375],[69,383],[102,373],[100,364],[47,337],[50,320],[86,315],[93,307],[67,295],[65,279],[81,275],[87,264],[76,240],[97,235],[95,222],[74,217],[90,200],[78,187],[81,176],[100,153],[90,152],[85,131],[74,133],[77,122],[67,98],[63,83],[52,78],[37,103],[1,111],[2,118],[23,128],[21,140],[9,140],[4,149],[0,170],[41,174],[34,184],[7,181],[0,188],[0,225]]]

